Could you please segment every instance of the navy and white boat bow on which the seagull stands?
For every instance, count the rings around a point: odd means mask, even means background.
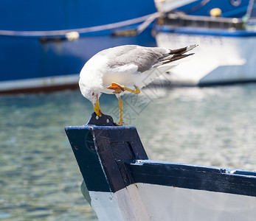
[[[151,161],[136,127],[104,114],[65,130],[99,220],[255,220],[256,172]]]

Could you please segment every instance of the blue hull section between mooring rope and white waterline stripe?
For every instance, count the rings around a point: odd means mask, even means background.
[[[45,43],[39,38],[0,36],[0,81],[79,74],[97,52],[123,44],[156,46],[156,41],[151,29],[135,37],[98,35]]]

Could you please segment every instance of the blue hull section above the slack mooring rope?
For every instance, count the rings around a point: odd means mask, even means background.
[[[154,12],[153,0],[1,1],[0,30],[77,29],[125,21]]]

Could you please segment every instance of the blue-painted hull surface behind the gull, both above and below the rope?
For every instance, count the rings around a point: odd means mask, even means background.
[[[112,24],[155,13],[153,0],[2,1],[0,30],[51,31]],[[78,74],[90,57],[113,46],[156,46],[151,29],[134,37],[110,31],[80,35],[77,41],[46,41],[38,37],[0,35],[0,82]],[[63,36],[55,36],[63,38]]]

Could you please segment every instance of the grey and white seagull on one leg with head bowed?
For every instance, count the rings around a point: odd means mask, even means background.
[[[100,95],[115,94],[119,101],[119,122],[122,125],[122,99],[126,93],[139,94],[140,89],[151,83],[159,73],[173,69],[175,60],[196,44],[180,49],[145,47],[137,45],[116,46],[91,57],[80,71],[79,87],[83,97],[91,101],[97,116],[101,116]]]

